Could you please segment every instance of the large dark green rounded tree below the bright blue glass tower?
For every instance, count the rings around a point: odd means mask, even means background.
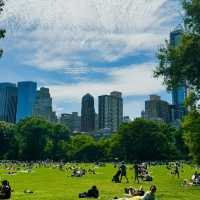
[[[20,144],[19,158],[22,160],[46,159],[46,147],[52,132],[52,125],[42,118],[27,118],[18,123]]]

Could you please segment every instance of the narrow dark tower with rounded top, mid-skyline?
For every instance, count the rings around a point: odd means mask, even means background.
[[[81,131],[91,132],[94,130],[95,130],[94,98],[92,95],[86,94],[82,98]]]

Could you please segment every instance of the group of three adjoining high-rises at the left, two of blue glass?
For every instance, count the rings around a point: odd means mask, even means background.
[[[16,123],[31,116],[57,121],[49,89],[37,90],[37,83],[31,81],[0,83],[0,120]]]

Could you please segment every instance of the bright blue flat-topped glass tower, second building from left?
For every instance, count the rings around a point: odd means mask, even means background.
[[[33,115],[37,83],[24,81],[18,83],[17,122]]]

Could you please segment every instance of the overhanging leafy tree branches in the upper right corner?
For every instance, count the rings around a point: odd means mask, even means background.
[[[196,92],[200,92],[200,2],[183,0],[184,23],[187,29],[177,47],[168,41],[158,51],[159,66],[155,77],[163,77],[168,89],[183,81]]]

